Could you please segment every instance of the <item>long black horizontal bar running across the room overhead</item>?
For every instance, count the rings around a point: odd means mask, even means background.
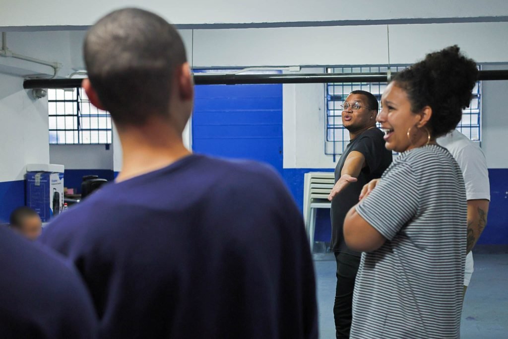
[[[394,77],[397,73],[392,73]],[[387,82],[387,73],[317,74],[195,74],[196,85],[239,85],[275,83]],[[508,70],[480,71],[478,80],[508,80]],[[75,88],[82,79],[30,79],[23,88]]]

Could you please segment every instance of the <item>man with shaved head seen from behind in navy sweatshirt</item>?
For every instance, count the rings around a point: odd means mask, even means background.
[[[100,337],[316,338],[309,246],[280,178],[183,146],[194,88],[176,29],[118,10],[90,28],[84,56],[123,168],[41,241],[80,271]]]

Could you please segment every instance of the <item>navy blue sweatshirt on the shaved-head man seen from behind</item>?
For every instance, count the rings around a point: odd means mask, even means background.
[[[192,155],[108,184],[41,241],[81,272],[103,338],[316,338],[313,263],[279,177]]]

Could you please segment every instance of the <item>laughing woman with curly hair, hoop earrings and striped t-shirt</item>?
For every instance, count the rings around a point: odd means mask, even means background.
[[[455,129],[478,76],[451,46],[397,74],[377,116],[400,152],[347,214],[347,245],[364,252],[352,338],[458,338],[466,254],[459,165],[436,138]]]

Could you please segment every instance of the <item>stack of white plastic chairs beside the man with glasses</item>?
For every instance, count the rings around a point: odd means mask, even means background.
[[[309,172],[303,180],[303,218],[310,242],[310,251],[314,246],[314,231],[317,208],[330,208],[328,195],[333,188],[335,177],[333,172]]]

